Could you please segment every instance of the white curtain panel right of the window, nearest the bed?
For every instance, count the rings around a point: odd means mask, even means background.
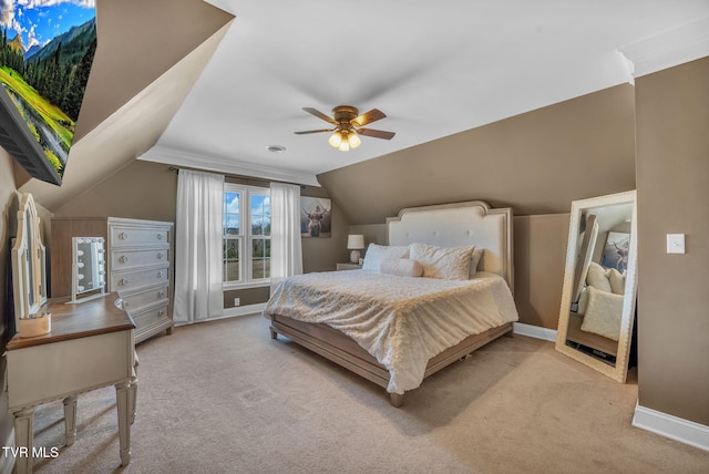
[[[300,186],[270,184],[270,290],[302,274]]]

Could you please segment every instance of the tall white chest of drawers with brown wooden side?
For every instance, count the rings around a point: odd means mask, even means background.
[[[119,217],[52,219],[52,297],[71,295],[71,237],[105,238],[107,290],[119,292],[135,321],[135,342],[171,332],[172,223]]]

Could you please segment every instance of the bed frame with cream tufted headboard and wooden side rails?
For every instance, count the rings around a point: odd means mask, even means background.
[[[387,219],[389,245],[412,243],[441,247],[475,245],[485,249],[479,269],[501,275],[514,290],[512,258],[512,209],[491,208],[481,200],[410,207]],[[273,315],[271,339],[282,334],[294,342],[377,383],[389,384],[389,371],[353,339],[321,323],[308,323]],[[513,336],[513,323],[469,336],[458,344],[431,358],[424,379],[464,358],[501,336]],[[401,406],[403,394],[390,393],[391,404]]]

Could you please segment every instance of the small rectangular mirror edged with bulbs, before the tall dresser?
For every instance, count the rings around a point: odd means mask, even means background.
[[[103,237],[72,238],[72,302],[101,296],[105,289],[105,258]],[[96,292],[78,299],[79,295]]]

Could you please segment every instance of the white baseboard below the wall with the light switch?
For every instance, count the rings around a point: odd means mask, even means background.
[[[636,404],[633,426],[709,451],[709,426],[703,424]]]

